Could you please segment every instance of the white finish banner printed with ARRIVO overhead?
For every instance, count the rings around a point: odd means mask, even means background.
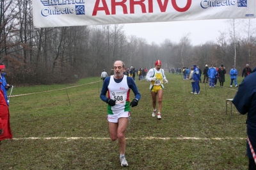
[[[35,27],[255,18],[255,0],[33,0]]]

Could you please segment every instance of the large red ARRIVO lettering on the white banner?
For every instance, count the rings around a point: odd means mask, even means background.
[[[102,3],[102,6],[99,6],[100,1]],[[153,0],[147,0],[148,6],[146,6],[145,1],[146,0],[137,0],[137,1],[122,0],[122,1],[116,2],[116,0],[111,0],[111,13],[110,13],[106,0],[96,0],[95,6],[93,8],[92,16],[97,15],[97,12],[99,11],[104,11],[106,15],[115,15],[116,6],[122,7],[124,14],[128,14],[128,10],[129,10],[129,13],[134,13],[134,6],[140,6],[142,13],[153,13]],[[157,4],[161,12],[166,12],[166,8],[169,1],[172,1],[172,6],[177,12],[186,12],[190,8],[192,3],[192,0],[187,0],[186,6],[184,8],[180,8],[176,3],[176,1],[179,1],[179,0],[157,0]],[[126,5],[127,3],[129,3],[129,6],[130,6],[129,9],[127,8],[127,5]]]

